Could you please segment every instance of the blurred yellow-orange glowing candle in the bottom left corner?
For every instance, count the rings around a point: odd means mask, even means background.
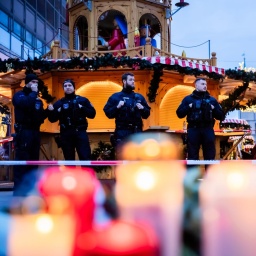
[[[74,223],[70,215],[13,215],[9,234],[6,255],[72,255]]]

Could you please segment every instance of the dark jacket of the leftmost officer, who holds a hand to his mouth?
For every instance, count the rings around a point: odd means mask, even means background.
[[[23,127],[39,129],[47,117],[47,111],[43,108],[42,100],[38,98],[38,92],[26,86],[14,94],[12,103],[15,123]]]

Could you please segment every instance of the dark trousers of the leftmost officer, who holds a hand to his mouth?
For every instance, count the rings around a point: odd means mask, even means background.
[[[39,160],[40,131],[23,128],[14,139],[15,160]],[[15,165],[13,167],[14,196],[26,196],[35,185],[38,166]]]

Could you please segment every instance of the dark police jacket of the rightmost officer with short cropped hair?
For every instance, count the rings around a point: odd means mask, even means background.
[[[192,103],[192,107],[189,104]],[[214,109],[211,108],[214,106]],[[194,90],[192,94],[186,96],[176,114],[179,118],[187,116],[188,128],[190,127],[213,127],[215,119],[223,120],[224,113],[217,100],[210,96],[209,92],[199,92]]]

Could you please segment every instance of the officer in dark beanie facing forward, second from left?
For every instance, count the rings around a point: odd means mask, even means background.
[[[87,118],[93,119],[96,110],[90,101],[75,94],[75,83],[71,79],[63,82],[65,97],[48,105],[50,122],[59,121],[60,147],[65,160],[75,160],[75,150],[80,160],[89,160],[91,147],[87,135]]]

